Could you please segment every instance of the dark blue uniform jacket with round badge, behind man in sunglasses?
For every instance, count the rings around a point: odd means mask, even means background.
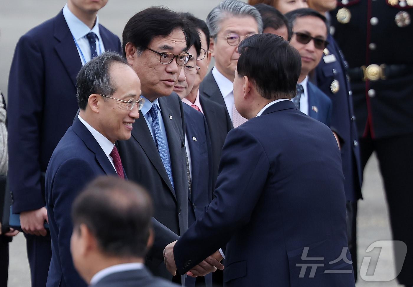
[[[328,35],[327,49],[330,55],[335,55],[336,61],[325,63],[321,59],[316,68],[316,83],[331,100],[332,115],[330,128],[339,136],[343,173],[346,179],[344,190],[348,201],[361,198],[361,163],[360,148],[357,142],[356,117],[354,117],[353,100],[350,84],[346,75],[346,63],[339,47],[331,35]],[[339,90],[331,91],[332,81],[338,81]]]

